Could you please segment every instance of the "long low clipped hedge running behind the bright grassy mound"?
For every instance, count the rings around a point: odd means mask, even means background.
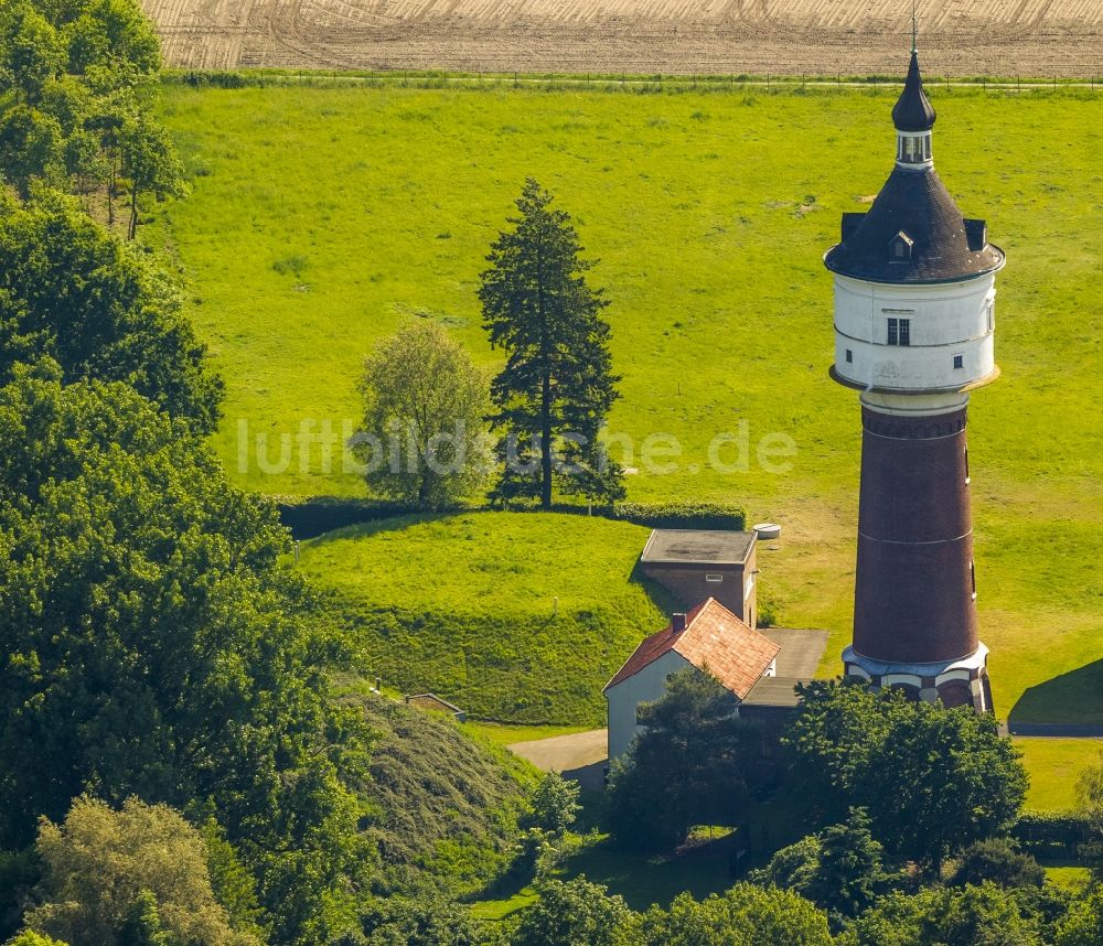
[[[416,515],[421,509],[387,499],[363,499],[343,496],[272,496],[280,522],[297,539],[311,539],[323,533],[376,523],[395,516]],[[439,512],[463,513],[488,509],[489,506],[461,504]],[[511,506],[513,512],[536,512],[537,506]],[[747,516],[738,506],[715,503],[618,503],[617,505],[577,506],[557,503],[553,512],[572,515],[601,516],[653,529],[733,529],[740,530]]]

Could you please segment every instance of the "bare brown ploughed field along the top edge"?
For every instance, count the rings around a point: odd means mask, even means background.
[[[908,0],[143,0],[183,68],[902,72]],[[925,0],[933,75],[1103,74],[1103,0]]]

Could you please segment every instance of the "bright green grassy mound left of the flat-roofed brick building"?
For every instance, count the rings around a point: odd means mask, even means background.
[[[633,578],[647,534],[555,514],[405,517],[303,542],[301,566],[367,676],[474,717],[601,724],[601,687],[664,621]]]

